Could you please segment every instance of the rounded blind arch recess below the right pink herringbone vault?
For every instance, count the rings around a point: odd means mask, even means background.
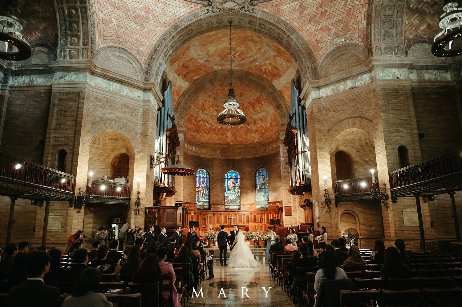
[[[365,66],[364,70],[366,71],[370,63],[371,59],[364,46],[357,43],[341,44],[332,49],[319,64],[319,78],[325,78],[336,72],[345,71],[359,65]],[[338,67],[333,67],[338,64],[342,65],[340,70]]]

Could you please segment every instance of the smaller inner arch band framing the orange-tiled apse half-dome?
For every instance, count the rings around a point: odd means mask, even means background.
[[[211,80],[225,79],[226,82],[228,82],[228,78],[229,72],[227,70],[219,70],[211,72],[197,79],[193,84],[189,85],[188,88],[182,93],[175,105],[177,126],[184,126],[184,120],[186,119],[186,115],[188,114],[190,106],[194,102],[195,96],[201,93],[202,90],[207,89],[207,84],[209,84]],[[280,126],[285,126],[287,124],[287,113],[289,113],[289,107],[287,106],[284,96],[282,96],[280,91],[271,82],[252,72],[243,70],[233,70],[233,79],[244,79],[249,84],[257,87],[261,93],[268,98],[271,106],[278,114]]]

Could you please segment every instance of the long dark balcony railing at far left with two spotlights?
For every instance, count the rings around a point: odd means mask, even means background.
[[[73,198],[73,175],[0,153],[1,187],[57,199]],[[66,192],[66,193],[62,193]]]

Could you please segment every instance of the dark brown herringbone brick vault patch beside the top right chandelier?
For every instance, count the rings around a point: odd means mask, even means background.
[[[443,13],[443,0],[412,0],[407,6],[404,42],[418,38],[433,38],[441,29],[439,16]]]

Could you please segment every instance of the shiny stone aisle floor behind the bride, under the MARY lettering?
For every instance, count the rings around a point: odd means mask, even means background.
[[[215,278],[202,281],[197,289],[200,292],[202,288],[204,298],[201,298],[201,295],[189,298],[186,306],[293,306],[287,294],[269,276],[268,266],[253,271],[235,271],[228,266],[215,264],[213,270]],[[247,295],[249,297],[242,295],[243,287],[248,289]],[[263,287],[268,291],[268,294]],[[270,287],[271,289],[268,290]],[[220,294],[221,288],[223,288],[223,292]],[[220,297],[218,297],[219,295]]]

